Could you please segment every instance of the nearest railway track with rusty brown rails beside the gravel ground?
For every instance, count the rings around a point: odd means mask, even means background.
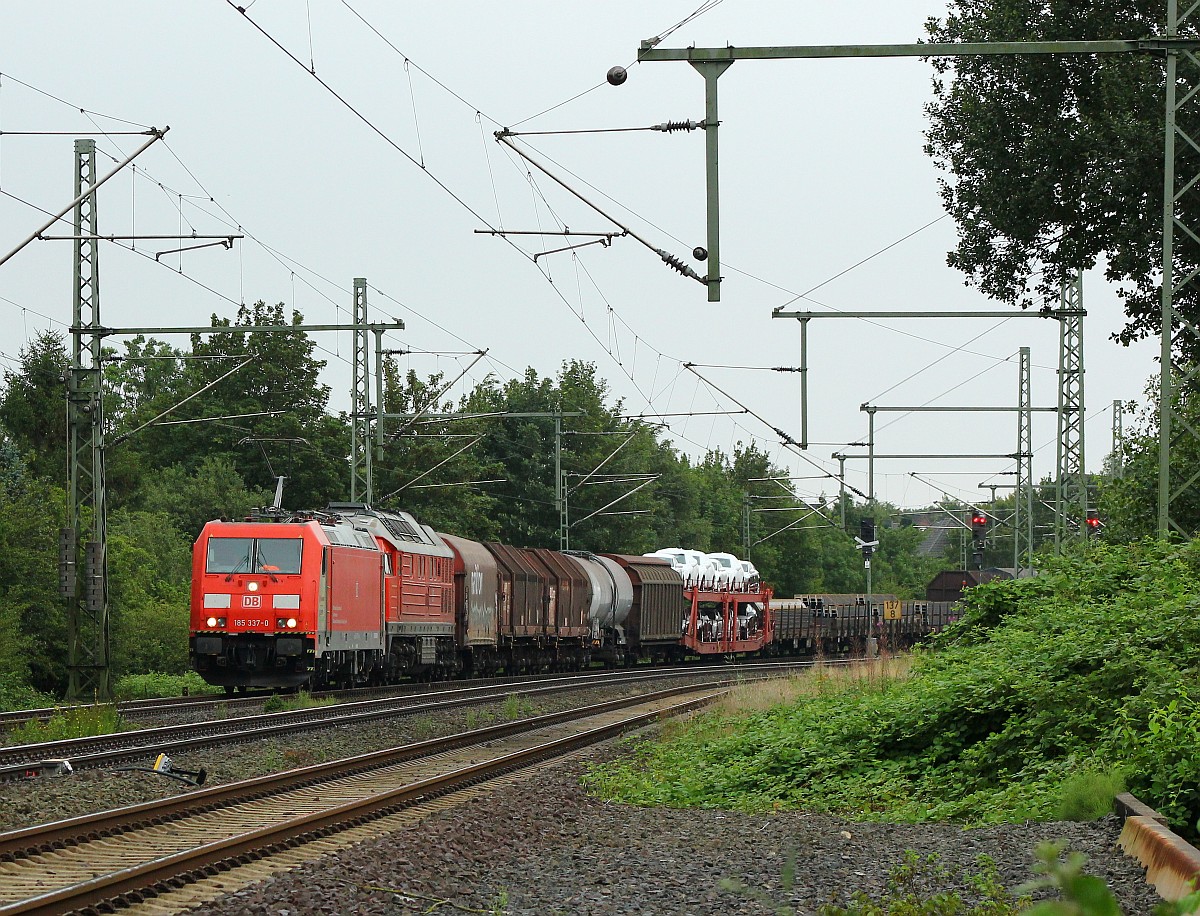
[[[736,679],[714,677],[2,833],[0,916],[192,906],[238,886],[239,868],[257,880],[264,860],[278,857],[276,867],[287,868],[306,848],[310,857],[324,855],[350,827],[346,842],[358,842],[370,825],[394,830],[391,819],[412,819],[414,806],[478,791],[480,783],[698,708]],[[148,899],[152,908],[143,909]]]

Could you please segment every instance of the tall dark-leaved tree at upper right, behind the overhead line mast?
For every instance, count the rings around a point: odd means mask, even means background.
[[[1130,38],[1160,34],[1163,13],[1160,0],[954,0],[926,30],[937,42]],[[935,60],[926,149],[949,173],[950,265],[1028,306],[1055,301],[1064,279],[1103,259],[1126,303],[1122,340],[1157,335],[1163,66],[1147,54]],[[1194,149],[1181,143],[1178,155],[1177,174],[1200,170]],[[1194,199],[1178,203],[1188,224],[1200,217]],[[1176,233],[1175,258],[1181,276],[1194,271],[1200,245]],[[1196,294],[1189,285],[1176,299],[1193,321]]]

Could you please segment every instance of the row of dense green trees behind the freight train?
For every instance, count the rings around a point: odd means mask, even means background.
[[[116,675],[186,665],[188,557],[206,521],[269,504],[276,477],[287,478],[287,508],[349,498],[350,419],[330,414],[324,361],[300,323],[282,305],[258,303],[235,321],[214,318],[215,333],[187,348],[136,337],[106,351]],[[13,672],[0,684],[5,695],[66,684],[56,557],[67,361],[62,339],[42,335],[0,393],[0,670]],[[488,376],[456,400],[442,375],[402,375],[389,360],[384,379],[377,507],[522,546],[557,547],[564,525],[570,547],[595,552],[686,546],[744,556],[749,544],[780,594],[865,591],[836,503],[800,499],[754,442],[732,454],[680,453],[658,425],[624,415],[592,363],[566,360],[553,376]],[[857,526],[860,510],[846,509]],[[932,573],[912,558],[913,532],[881,523],[881,540],[876,591],[920,594]]]

